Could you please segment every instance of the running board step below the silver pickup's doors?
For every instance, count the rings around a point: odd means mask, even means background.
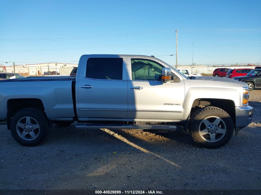
[[[157,129],[157,130],[176,130],[176,125],[164,124],[92,124],[81,123],[76,125],[76,129]]]

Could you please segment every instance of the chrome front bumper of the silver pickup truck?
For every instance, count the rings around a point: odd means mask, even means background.
[[[240,129],[246,127],[251,123],[253,116],[253,108],[251,106],[240,106],[235,108],[236,123],[235,135],[238,135]]]

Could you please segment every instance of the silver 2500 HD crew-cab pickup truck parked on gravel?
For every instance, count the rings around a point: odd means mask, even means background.
[[[252,119],[246,83],[187,77],[144,55],[82,55],[76,77],[0,81],[0,124],[20,144],[40,144],[52,124],[154,129],[176,125],[202,147],[219,148]]]

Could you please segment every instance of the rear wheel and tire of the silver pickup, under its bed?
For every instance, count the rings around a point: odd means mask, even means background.
[[[31,124],[27,123],[27,119]],[[38,108],[25,108],[16,112],[11,118],[10,128],[12,136],[18,143],[24,146],[36,146],[44,140],[49,125],[44,111]]]

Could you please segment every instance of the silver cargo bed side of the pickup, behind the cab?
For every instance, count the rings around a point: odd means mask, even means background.
[[[0,81],[0,120],[6,119],[13,99],[38,99],[49,120],[73,120],[75,116],[75,77],[39,76]]]

